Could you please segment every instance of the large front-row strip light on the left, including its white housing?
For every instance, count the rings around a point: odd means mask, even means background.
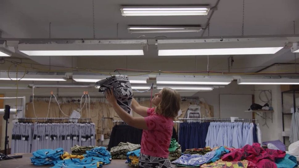
[[[147,40],[86,40],[61,44],[18,44],[18,50],[30,56],[144,55]]]

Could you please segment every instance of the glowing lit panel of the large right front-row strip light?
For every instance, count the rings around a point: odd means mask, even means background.
[[[275,54],[283,47],[159,50],[159,56]]]

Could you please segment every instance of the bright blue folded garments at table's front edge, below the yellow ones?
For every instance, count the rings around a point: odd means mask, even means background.
[[[78,158],[65,159],[55,164],[52,168],[98,168],[103,166],[103,158],[88,157],[82,160]]]

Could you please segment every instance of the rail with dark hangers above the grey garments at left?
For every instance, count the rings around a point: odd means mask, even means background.
[[[18,118],[20,123],[91,123],[91,118]]]

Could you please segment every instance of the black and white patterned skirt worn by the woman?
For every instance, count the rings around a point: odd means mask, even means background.
[[[159,158],[140,154],[139,168],[172,168],[168,158]]]

